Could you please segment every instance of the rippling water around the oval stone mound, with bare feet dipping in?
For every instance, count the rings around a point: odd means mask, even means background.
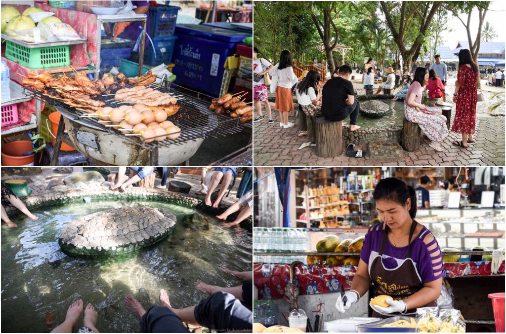
[[[123,206],[173,212],[178,217],[174,235],[143,249],[132,259],[109,263],[75,259],[60,251],[57,238],[65,224],[83,215]],[[159,202],[101,202],[39,209],[34,212],[39,217],[36,221],[11,217],[18,223],[17,228],[2,224],[2,332],[49,332],[46,312],[55,315],[56,326],[77,299],[95,306],[101,332],[139,332],[139,321],[123,303],[128,294],[148,309],[158,304],[159,291],[165,289],[172,305],[180,308],[206,297],[194,289],[196,279],[222,287],[241,284],[219,266],[251,269],[251,233],[218,224],[208,231],[186,229],[181,221],[192,212]],[[214,217],[212,221],[217,223]],[[77,322],[81,325],[82,315]]]

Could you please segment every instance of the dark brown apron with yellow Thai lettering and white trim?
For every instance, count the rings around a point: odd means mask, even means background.
[[[374,284],[374,296],[379,295],[388,295],[392,297],[394,300],[403,300],[412,294],[418,292],[421,288],[424,287],[424,284],[421,282],[418,271],[416,270],[416,266],[411,260],[411,254],[409,246],[411,244],[411,239],[413,237],[414,230],[416,228],[417,222],[413,220],[411,224],[411,229],[409,230],[409,244],[407,247],[407,253],[405,257],[405,261],[396,269],[387,269],[383,265],[382,255],[385,250],[385,244],[388,238],[388,229],[389,227],[385,224],[385,230],[383,233],[383,238],[381,242],[381,246],[379,247],[379,253],[372,260],[369,276],[371,277],[372,283]],[[436,301],[433,301],[427,304],[425,307],[437,306]],[[373,317],[380,318],[388,318],[398,315],[414,315],[416,314],[416,309],[407,310],[406,313],[391,313],[389,315],[379,314],[376,311],[372,312]]]

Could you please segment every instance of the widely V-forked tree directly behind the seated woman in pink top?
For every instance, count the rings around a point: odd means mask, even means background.
[[[420,55],[420,49],[425,42],[427,30],[437,10],[443,6],[443,2],[403,1],[387,4],[380,1],[379,5],[381,5],[387,25],[402,56],[402,70],[409,71],[413,60]],[[411,46],[408,46],[406,37],[413,31],[416,31],[418,36],[411,43]]]

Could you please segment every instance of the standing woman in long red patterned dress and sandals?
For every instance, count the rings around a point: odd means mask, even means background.
[[[453,93],[453,102],[456,104],[456,108],[451,127],[453,132],[462,134],[462,140],[454,140],[453,145],[462,148],[467,148],[468,143],[475,142],[473,134],[478,100],[476,80],[478,80],[478,65],[473,61],[469,49],[462,49],[458,53],[458,74]]]

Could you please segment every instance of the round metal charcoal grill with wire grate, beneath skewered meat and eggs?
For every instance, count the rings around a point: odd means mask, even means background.
[[[116,166],[172,166],[188,161],[198,150],[207,137],[226,136],[242,131],[244,127],[251,127],[251,122],[240,122],[239,119],[225,115],[216,115],[208,109],[209,102],[195,98],[183,89],[162,78],[165,86],[159,86],[161,92],[178,95],[179,111],[167,120],[181,128],[181,135],[177,139],[145,142],[135,136],[125,136],[121,131],[106,127],[97,119],[82,118],[84,114],[63,101],[44,95],[42,91],[25,88],[31,96],[54,106],[61,114],[60,124],[56,135],[55,152],[51,166],[58,161],[61,142],[72,145],[79,152],[85,154],[97,164]],[[133,87],[126,85],[127,88]],[[117,107],[114,101],[106,102],[111,97],[100,96],[94,98],[105,102],[106,106]],[[66,131],[64,131],[66,130]],[[66,132],[66,133],[65,133]]]

